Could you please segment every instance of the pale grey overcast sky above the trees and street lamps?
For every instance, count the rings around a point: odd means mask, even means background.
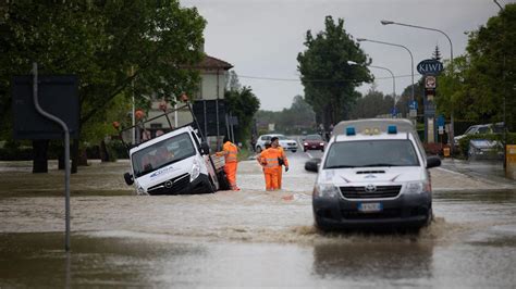
[[[515,0],[499,0],[503,5]],[[414,65],[429,59],[439,46],[450,59],[447,39],[439,33],[398,25],[383,26],[391,20],[446,33],[453,42],[454,56],[464,53],[465,32],[477,29],[499,7],[492,0],[181,0],[184,7],[197,7],[207,20],[205,51],[233,64],[242,85],[250,86],[262,110],[290,108],[296,95],[304,96],[297,72],[297,53],[308,29],[324,28],[324,17],[344,18],[344,28],[356,38],[368,38],[407,47]],[[360,47],[372,65],[390,68],[396,76],[396,93],[410,85],[410,56],[403,48],[372,42]],[[416,67],[415,80],[419,79]],[[371,68],[378,90],[392,92],[392,78],[382,70]],[[257,79],[282,78],[286,80]],[[371,85],[358,90],[366,92]]]

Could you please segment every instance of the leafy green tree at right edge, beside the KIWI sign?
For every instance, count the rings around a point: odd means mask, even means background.
[[[516,4],[507,4],[478,30],[469,33],[466,54],[438,79],[438,109],[482,123],[501,122],[506,109],[509,130],[516,129]],[[505,100],[505,105],[504,105]]]

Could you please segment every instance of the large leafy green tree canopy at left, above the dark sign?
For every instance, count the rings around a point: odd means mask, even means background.
[[[206,22],[176,0],[11,1],[2,9],[2,116],[10,115],[11,77],[27,74],[34,61],[40,74],[78,75],[83,128],[102,123],[131,84],[138,102],[156,96],[173,103],[172,96],[197,88],[198,73],[189,67],[202,58]],[[77,151],[75,141],[75,160]]]

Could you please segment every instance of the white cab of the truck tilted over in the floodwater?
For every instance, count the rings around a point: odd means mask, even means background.
[[[127,185],[137,194],[180,194],[214,192],[217,171],[209,147],[192,126],[185,126],[140,143],[130,150],[132,173]]]

